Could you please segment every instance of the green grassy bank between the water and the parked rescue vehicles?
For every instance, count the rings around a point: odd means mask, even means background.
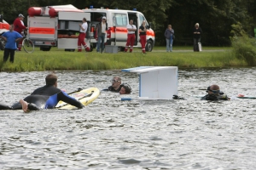
[[[1,59],[2,60],[2,59]],[[207,48],[193,52],[191,47],[175,47],[166,53],[165,47],[155,47],[153,52],[142,54],[137,48],[134,53],[98,54],[65,52],[52,48],[49,52],[38,48],[32,54],[15,53],[15,63],[3,63],[1,71],[46,71],[46,70],[112,70],[136,66],[178,66],[179,68],[247,66],[244,59],[237,59],[230,48]]]

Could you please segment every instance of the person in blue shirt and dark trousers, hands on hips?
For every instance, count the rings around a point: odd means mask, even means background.
[[[14,31],[14,25],[9,26],[9,31],[4,32],[1,36],[5,41],[5,48],[3,53],[3,62],[6,62],[9,58],[9,62],[15,62],[15,50],[17,49],[16,42],[22,39],[19,32]]]

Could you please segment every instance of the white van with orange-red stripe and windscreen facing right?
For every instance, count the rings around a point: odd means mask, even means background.
[[[127,29],[126,26],[129,24],[129,20],[133,20],[133,24],[137,26],[135,33],[136,40],[134,42],[134,48],[141,48],[142,45],[139,41],[139,27],[142,25],[143,20],[146,20],[145,16],[136,10],[119,10],[119,9],[108,9],[108,8],[85,8],[85,13],[90,13],[90,24],[89,24],[89,37],[90,43],[93,47],[96,47],[96,26],[102,20],[102,16],[106,16],[108,23],[107,38],[105,41],[106,45],[118,46],[120,51],[125,49],[127,40]],[[146,20],[146,25],[149,26]],[[150,27],[150,26],[149,26]],[[146,51],[152,51],[154,47],[154,31],[150,28],[147,31],[147,43]]]

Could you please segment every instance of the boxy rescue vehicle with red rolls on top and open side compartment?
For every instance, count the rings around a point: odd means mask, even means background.
[[[71,4],[28,8],[27,37],[43,51],[51,47],[74,51],[78,48],[79,24],[83,18],[90,23],[90,14]],[[84,41],[90,46],[90,38]]]

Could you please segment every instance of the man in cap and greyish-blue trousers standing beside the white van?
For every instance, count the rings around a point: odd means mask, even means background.
[[[107,18],[106,16],[102,17],[102,22],[100,22],[97,25],[97,30],[96,30],[96,39],[97,39],[97,53],[100,53],[100,48],[101,48],[101,53],[104,51],[104,42],[105,42],[105,37],[106,37],[106,31],[108,30],[108,23],[107,23]]]

